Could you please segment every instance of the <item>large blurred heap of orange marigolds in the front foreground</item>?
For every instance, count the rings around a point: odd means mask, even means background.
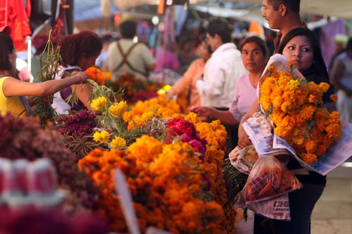
[[[205,176],[210,169],[188,143],[165,145],[144,135],[126,151],[96,149],[78,166],[95,181],[96,205],[117,232],[127,229],[114,190],[114,168],[127,177],[142,232],[155,226],[172,233],[224,233],[222,206],[207,192]]]

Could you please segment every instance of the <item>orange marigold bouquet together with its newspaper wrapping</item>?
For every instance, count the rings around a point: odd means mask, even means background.
[[[271,56],[257,89],[261,112],[243,124],[259,158],[287,150],[304,168],[322,175],[349,158],[352,125],[327,111],[322,95],[328,89],[328,83],[308,82],[283,55]],[[274,134],[261,133],[267,122]]]

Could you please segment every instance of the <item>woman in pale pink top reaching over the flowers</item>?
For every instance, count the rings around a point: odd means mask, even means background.
[[[222,123],[236,124],[248,112],[257,98],[257,85],[267,61],[267,50],[263,39],[251,36],[240,45],[242,62],[249,74],[241,76],[235,86],[235,94],[228,111],[219,111],[213,107],[198,106],[192,109],[198,116],[212,116]]]

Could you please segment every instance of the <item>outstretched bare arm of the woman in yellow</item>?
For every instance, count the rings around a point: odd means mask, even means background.
[[[70,85],[79,84],[88,79],[84,72],[79,72],[69,78],[60,80],[48,80],[40,83],[29,83],[7,78],[3,85],[2,91],[7,98],[12,96],[49,96]]]

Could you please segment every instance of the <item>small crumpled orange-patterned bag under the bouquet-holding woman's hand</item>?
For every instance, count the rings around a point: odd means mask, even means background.
[[[258,153],[253,145],[243,149],[239,149],[238,146],[236,146],[228,157],[230,158],[232,166],[238,171],[249,175],[254,163],[258,160]]]

